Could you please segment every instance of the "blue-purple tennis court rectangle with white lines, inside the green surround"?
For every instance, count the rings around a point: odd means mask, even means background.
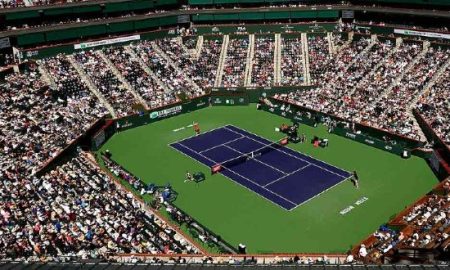
[[[274,146],[273,142],[232,125],[171,146],[208,167],[224,164],[221,174],[286,210],[311,200],[351,175],[290,148]],[[245,160],[241,160],[242,156],[246,156]]]

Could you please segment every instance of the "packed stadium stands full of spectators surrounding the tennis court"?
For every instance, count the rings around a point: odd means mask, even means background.
[[[0,7],[22,5],[2,1]],[[364,34],[347,41],[346,35],[281,36],[280,47],[276,36],[267,34],[203,42],[193,36],[163,38],[29,61],[7,75],[0,84],[0,258],[201,253],[85,153],[36,173],[107,115],[121,118],[142,111],[141,106],[175,104],[215,86],[276,86],[276,50],[281,53],[279,85],[311,88],[275,98],[426,141],[412,115],[416,108],[450,146],[450,49]],[[146,192],[139,179],[106,165]],[[394,250],[448,250],[448,200],[448,193],[427,196],[396,220],[400,229],[380,227],[355,256],[380,262]],[[294,263],[313,262],[297,258]]]

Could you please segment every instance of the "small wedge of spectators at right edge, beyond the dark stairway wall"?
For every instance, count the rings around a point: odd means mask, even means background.
[[[442,141],[450,145],[450,66],[439,78],[419,99],[417,109]]]

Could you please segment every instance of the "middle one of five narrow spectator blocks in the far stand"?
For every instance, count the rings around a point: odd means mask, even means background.
[[[251,65],[251,86],[272,86],[274,82],[274,37],[255,38],[255,52]]]

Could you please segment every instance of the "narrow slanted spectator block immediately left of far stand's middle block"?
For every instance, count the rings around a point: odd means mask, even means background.
[[[244,85],[249,38],[230,39],[227,58],[223,67],[223,87],[238,87]]]

